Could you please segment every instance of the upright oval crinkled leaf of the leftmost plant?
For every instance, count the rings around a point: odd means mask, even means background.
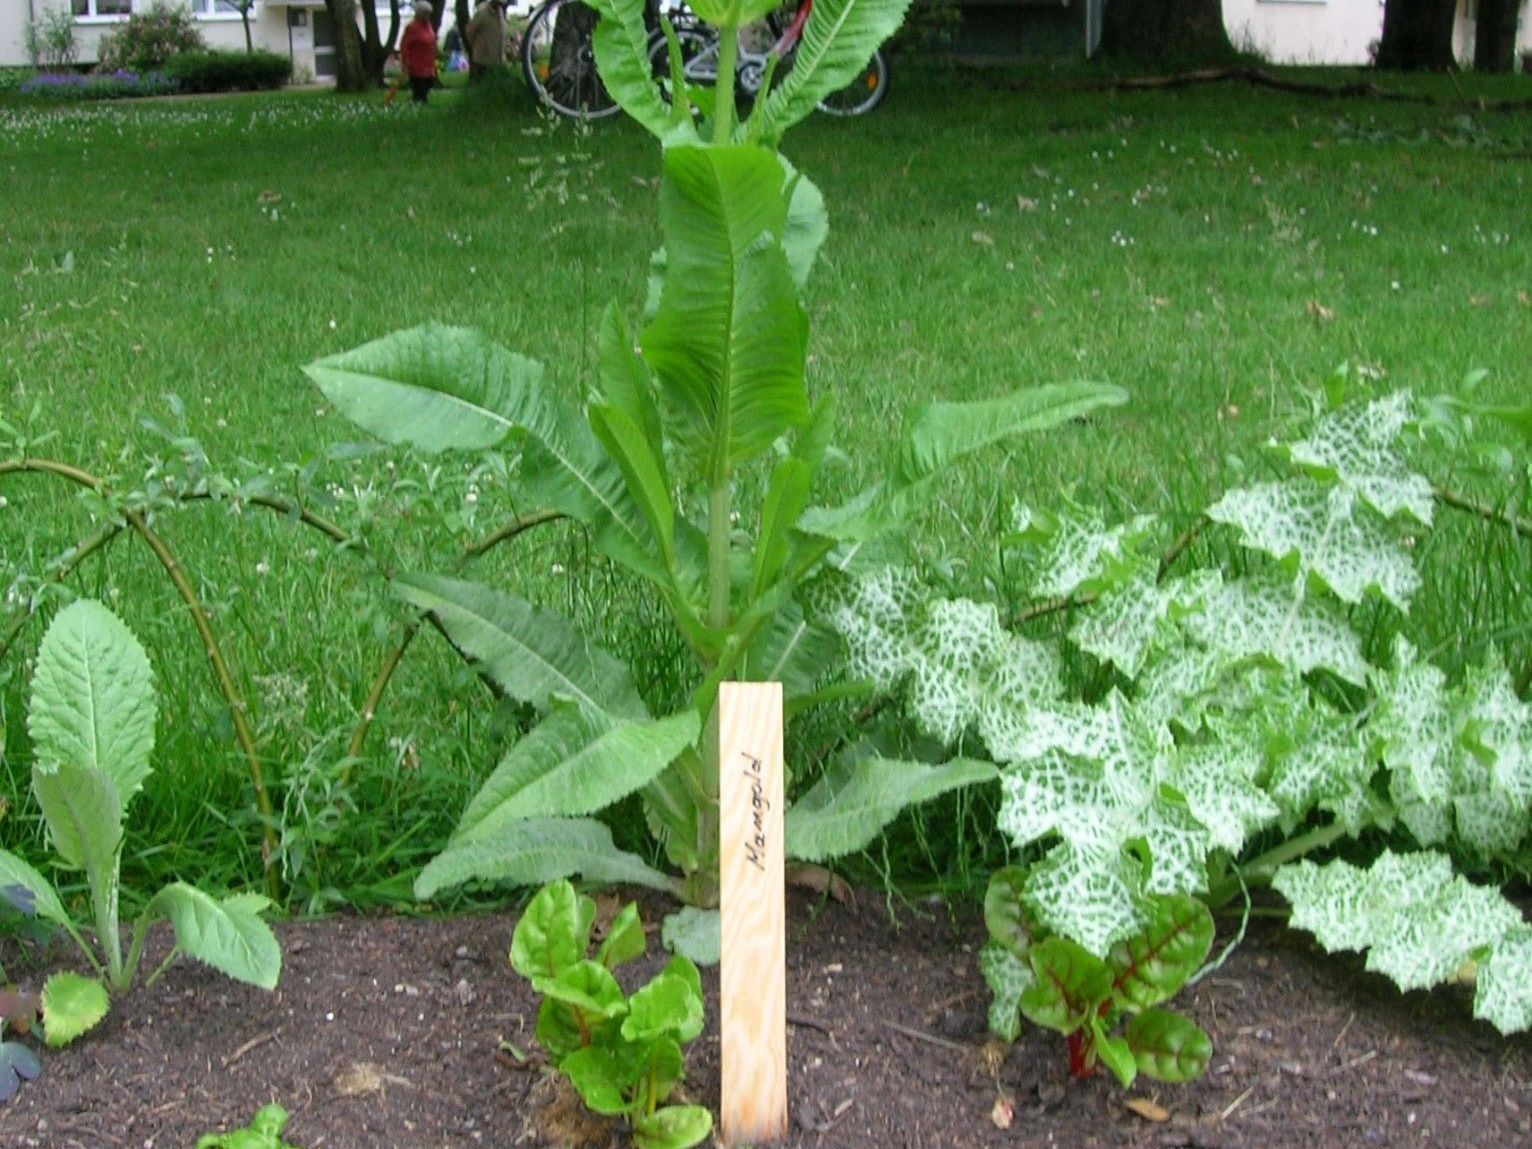
[[[126,806],[149,777],[155,685],[133,633],[100,602],[54,617],[37,651],[28,732],[43,769],[101,771]]]

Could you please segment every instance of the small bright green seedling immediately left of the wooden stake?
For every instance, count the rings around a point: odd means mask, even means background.
[[[567,881],[545,885],[516,924],[510,964],[542,994],[538,1040],[594,1112],[627,1118],[639,1149],[686,1149],[712,1131],[712,1114],[665,1105],[682,1080],[682,1046],[702,1033],[702,977],[673,958],[631,996],[613,970],[643,956],[639,907],[616,916],[590,954],[596,902]]]

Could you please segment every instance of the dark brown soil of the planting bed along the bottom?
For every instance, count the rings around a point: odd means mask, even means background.
[[[1051,1033],[990,1052],[980,927],[939,905],[901,922],[876,896],[791,901],[786,1144],[1532,1146],[1532,1039],[1471,1020],[1455,991],[1402,997],[1299,935],[1253,928],[1183,999],[1216,1045],[1203,1080],[1124,1092],[1105,1077],[1066,1080]],[[0,1146],[190,1147],[271,1100],[306,1149],[627,1144],[581,1120],[547,1075],[496,1056],[501,1039],[533,1045],[536,1003],[507,964],[512,925],[512,915],[285,925],[273,994],[178,964],[47,1054],[43,1079],[0,1106]],[[14,950],[0,958],[28,976]],[[705,982],[715,993],[717,979]],[[688,1089],[717,1106],[715,1028],[692,1046]],[[1166,1120],[1138,1115],[1132,1098]]]

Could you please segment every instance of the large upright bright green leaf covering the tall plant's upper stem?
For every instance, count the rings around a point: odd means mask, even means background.
[[[781,247],[786,224],[771,152],[666,149],[665,288],[643,355],[677,441],[709,486],[809,417],[807,317]]]

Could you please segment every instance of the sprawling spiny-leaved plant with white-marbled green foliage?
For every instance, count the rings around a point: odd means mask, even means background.
[[[1279,478],[1206,512],[1250,552],[1238,576],[1172,574],[1149,518],[1017,507],[1008,542],[1040,602],[1077,604],[1068,642],[1102,668],[1095,697],[1069,697],[1062,651],[991,605],[927,594],[899,570],[824,581],[852,673],[904,683],[927,732],[982,741],[999,766],[1000,829],[1034,858],[1016,882],[1034,936],[1108,958],[1154,928],[1164,898],[1219,904],[1272,884],[1295,924],[1368,950],[1400,987],[1468,967],[1477,1016],[1532,1025],[1532,925],[1449,861],[1529,844],[1532,708],[1494,653],[1449,683],[1406,637],[1388,665],[1370,662],[1353,627],[1351,608],[1405,611],[1420,585],[1413,544],[1435,506],[1403,453],[1416,427],[1396,394],[1337,401],[1273,446]],[[1302,861],[1368,830],[1419,849]],[[1250,856],[1258,840],[1278,844]],[[1010,1002],[1002,1031],[1039,976],[1030,942],[1005,941],[985,959]]]

